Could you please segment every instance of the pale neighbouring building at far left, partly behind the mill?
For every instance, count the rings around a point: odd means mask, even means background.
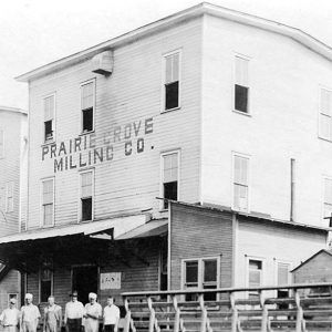
[[[25,218],[21,197],[27,188],[28,116],[25,111],[0,106],[0,236],[17,234]],[[0,263],[0,310],[9,299],[20,301],[20,273]]]

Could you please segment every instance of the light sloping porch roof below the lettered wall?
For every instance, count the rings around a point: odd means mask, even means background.
[[[101,221],[31,229],[20,234],[0,237],[0,245],[72,235],[92,236],[100,232],[106,232],[111,229],[113,230],[113,239],[116,239],[117,237],[144,225],[148,219],[148,215],[133,215],[115,217]]]

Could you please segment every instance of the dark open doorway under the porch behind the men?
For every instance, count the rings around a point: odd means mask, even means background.
[[[89,293],[98,291],[97,267],[74,267],[72,291],[77,291],[79,301],[83,304],[89,302]]]

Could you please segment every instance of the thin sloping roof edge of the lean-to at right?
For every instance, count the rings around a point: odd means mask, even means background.
[[[158,198],[158,199],[164,199],[164,198]],[[278,222],[278,224],[283,224],[283,225],[291,226],[291,227],[299,227],[299,228],[304,228],[304,229],[315,229],[315,230],[320,230],[320,231],[324,231],[324,232],[331,231],[331,228],[328,228],[328,227],[320,227],[320,226],[294,222],[294,221],[289,221],[289,220],[281,220],[281,219],[276,219],[276,218],[269,217],[268,215],[256,214],[256,212],[240,212],[240,211],[234,210],[228,207],[218,207],[215,205],[211,206],[211,205],[208,205],[205,203],[194,204],[194,203],[185,203],[185,201],[178,201],[178,200],[172,200],[172,199],[166,199],[166,200],[172,204],[196,207],[196,208],[210,210],[210,211],[228,212],[228,214],[232,214],[236,216],[241,216],[241,217],[247,217],[247,218],[252,218],[252,219],[260,219],[260,220],[264,220],[264,221],[269,221],[269,222]]]

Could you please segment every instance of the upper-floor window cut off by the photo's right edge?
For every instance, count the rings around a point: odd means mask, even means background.
[[[321,89],[319,136],[332,141],[332,91]]]

